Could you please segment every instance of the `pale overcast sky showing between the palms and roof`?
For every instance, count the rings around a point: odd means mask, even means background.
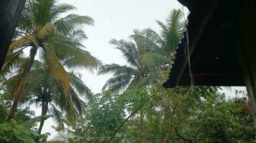
[[[110,39],[127,39],[133,29],[151,28],[159,30],[155,20],[164,21],[165,16],[172,9],[181,9],[176,0],[61,0],[61,3],[72,4],[77,7],[75,14],[91,16],[95,26],[86,26],[88,40],[84,42],[87,50],[104,64],[125,64],[122,54],[109,44]],[[111,75],[99,76],[86,70],[83,81],[93,93],[101,92],[107,79]],[[34,108],[33,108],[34,109]],[[40,115],[40,109],[35,109]],[[54,137],[56,132],[52,129],[52,119],[47,119],[42,132],[50,132]]]

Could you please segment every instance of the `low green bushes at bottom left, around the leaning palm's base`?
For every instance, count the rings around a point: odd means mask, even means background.
[[[15,116],[11,122],[7,121],[7,115],[9,109],[12,106],[12,97],[10,96],[8,87],[1,84],[0,86],[0,142],[40,142],[42,141],[39,134],[35,134],[37,130],[35,122],[38,118],[35,116],[35,112],[29,109],[29,107],[22,107],[17,109],[17,116]],[[47,118],[42,118],[47,119]],[[27,124],[29,122],[29,124]],[[26,126],[29,125],[29,126]]]

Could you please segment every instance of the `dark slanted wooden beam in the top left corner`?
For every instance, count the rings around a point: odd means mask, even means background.
[[[0,70],[26,0],[0,1]]]

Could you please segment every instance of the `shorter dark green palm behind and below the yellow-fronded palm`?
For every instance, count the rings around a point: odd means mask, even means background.
[[[29,84],[27,87],[26,99],[24,102],[29,102],[29,104],[36,104],[37,107],[42,108],[42,116],[46,115],[47,112],[53,115],[56,122],[58,122],[58,127],[64,127],[63,114],[69,122],[74,122],[78,116],[82,116],[83,109],[85,107],[85,102],[83,99],[90,99],[92,97],[92,92],[86,84],[76,76],[74,72],[69,72],[70,75],[70,92],[65,94],[61,88],[60,82],[52,79],[50,75],[43,74],[46,73],[44,69],[39,69],[31,71],[29,74]],[[42,73],[42,77],[39,79],[36,75]],[[37,82],[33,82],[37,80]],[[41,120],[38,133],[42,131],[44,120]]]

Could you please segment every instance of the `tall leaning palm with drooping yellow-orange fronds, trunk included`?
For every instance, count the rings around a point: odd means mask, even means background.
[[[9,120],[14,117],[37,54],[40,61],[45,62],[45,68],[50,76],[61,82],[65,93],[70,92],[70,75],[65,68],[92,70],[99,66],[99,61],[85,51],[81,44],[81,40],[86,39],[86,34],[81,28],[86,24],[93,25],[93,19],[76,14],[60,18],[61,14],[73,9],[76,8],[69,4],[58,4],[55,0],[29,0],[25,4],[17,27],[16,39],[9,46],[11,57],[7,58],[5,64],[6,69],[17,69],[14,74],[19,75],[12,90],[14,103]],[[17,64],[24,49],[30,49],[29,56],[22,59],[22,64]]]

